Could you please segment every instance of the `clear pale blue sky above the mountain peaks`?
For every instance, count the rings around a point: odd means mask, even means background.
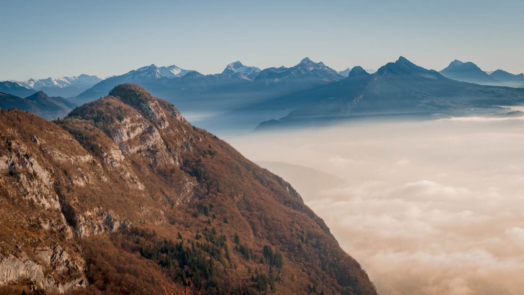
[[[343,70],[405,56],[524,71],[521,0],[0,0],[0,80],[107,77],[141,66],[221,72],[302,58]]]

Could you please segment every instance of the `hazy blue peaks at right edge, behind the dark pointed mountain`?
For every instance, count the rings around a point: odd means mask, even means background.
[[[473,62],[454,60],[440,73],[446,78],[480,85],[507,86],[519,88],[524,86],[524,74],[514,75],[504,70],[496,70],[488,75]]]

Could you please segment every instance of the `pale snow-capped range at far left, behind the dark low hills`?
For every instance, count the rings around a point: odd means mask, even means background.
[[[80,76],[29,79],[16,83],[28,89],[43,91],[50,96],[73,97],[102,81],[99,77],[82,74]]]

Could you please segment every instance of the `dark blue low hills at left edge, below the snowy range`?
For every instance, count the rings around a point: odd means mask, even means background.
[[[76,105],[62,97],[49,97],[38,91],[31,96],[21,98],[0,92],[0,109],[19,109],[40,115],[46,120],[63,118]]]

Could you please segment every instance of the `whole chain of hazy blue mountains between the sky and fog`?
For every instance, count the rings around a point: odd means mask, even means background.
[[[263,70],[235,61],[212,75],[150,65],[104,79],[70,100],[81,105],[105,96],[120,83],[137,83],[176,104],[195,124],[214,132],[238,133],[251,131],[260,122],[267,127],[297,122],[299,117],[298,121],[318,123],[386,114],[517,115],[497,106],[520,103],[522,91],[503,86],[524,83],[522,74],[496,70],[488,75],[472,62],[459,60],[440,72],[400,58],[373,73],[362,67],[341,73],[309,58],[293,67]],[[0,91],[27,97],[35,90],[3,82]]]

